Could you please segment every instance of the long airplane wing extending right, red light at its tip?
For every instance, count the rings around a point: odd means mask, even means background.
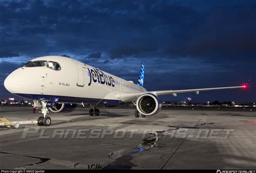
[[[174,97],[177,96],[177,93],[185,93],[185,92],[196,92],[199,94],[200,91],[211,91],[211,90],[225,90],[225,89],[237,89],[237,88],[247,88],[247,85],[242,86],[229,86],[229,87],[220,87],[220,88],[201,88],[201,89],[189,89],[189,90],[163,90],[163,91],[146,91],[146,92],[139,92],[139,93],[123,93],[119,94],[117,97],[120,98],[123,102],[134,100],[135,98],[145,94],[145,93],[152,93],[153,95],[160,96],[160,95],[173,95]]]

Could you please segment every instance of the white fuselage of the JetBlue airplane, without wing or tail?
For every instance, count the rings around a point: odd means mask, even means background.
[[[62,56],[43,56],[33,61],[47,61],[43,67],[21,67],[12,72],[4,86],[11,93],[28,99],[58,99],[59,103],[119,105],[119,94],[145,92],[146,89],[106,73],[88,64]],[[61,69],[48,68],[49,61]]]

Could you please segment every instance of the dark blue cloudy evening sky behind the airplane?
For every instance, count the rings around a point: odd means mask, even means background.
[[[69,55],[147,90],[240,85],[184,93],[195,102],[256,101],[256,1],[0,0],[0,99],[4,78],[44,55]]]

